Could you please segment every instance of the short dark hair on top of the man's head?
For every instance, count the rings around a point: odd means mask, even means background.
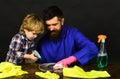
[[[63,12],[59,7],[53,5],[43,10],[42,17],[44,21],[52,19],[55,16],[57,16],[59,19],[63,18]]]

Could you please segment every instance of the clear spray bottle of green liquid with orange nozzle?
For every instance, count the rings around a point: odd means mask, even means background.
[[[97,57],[97,67],[99,70],[105,69],[108,65],[108,54],[105,48],[106,35],[98,35],[98,43],[100,43],[100,50]]]

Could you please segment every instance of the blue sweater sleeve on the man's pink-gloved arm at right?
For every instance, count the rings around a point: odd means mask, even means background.
[[[75,45],[78,48],[78,51],[73,56],[77,58],[80,65],[87,64],[97,56],[98,48],[94,42],[90,41],[77,29],[73,32],[73,37]]]

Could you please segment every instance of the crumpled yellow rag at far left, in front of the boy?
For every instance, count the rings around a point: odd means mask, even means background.
[[[23,74],[28,74],[27,71],[23,71],[21,66],[16,66],[10,62],[0,63],[0,78],[7,78],[12,76],[19,76]]]

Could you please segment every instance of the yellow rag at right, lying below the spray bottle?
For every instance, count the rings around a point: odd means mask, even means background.
[[[63,68],[63,76],[74,78],[103,78],[110,77],[110,74],[107,71],[84,71],[81,67],[75,65],[72,68]]]

